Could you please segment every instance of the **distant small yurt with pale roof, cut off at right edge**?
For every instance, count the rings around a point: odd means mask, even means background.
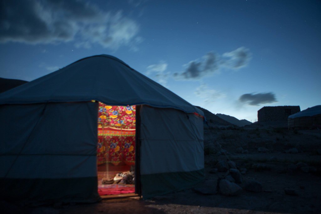
[[[307,108],[288,117],[289,129],[321,128],[321,105]]]

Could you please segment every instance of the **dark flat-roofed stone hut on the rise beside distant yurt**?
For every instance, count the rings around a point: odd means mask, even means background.
[[[300,111],[300,106],[265,106],[257,111],[258,122],[288,121],[288,116]]]

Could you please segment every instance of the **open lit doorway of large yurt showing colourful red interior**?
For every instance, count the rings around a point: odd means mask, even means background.
[[[136,106],[98,109],[98,193],[100,196],[135,193]]]

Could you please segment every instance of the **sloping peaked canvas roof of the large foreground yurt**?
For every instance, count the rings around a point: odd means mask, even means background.
[[[204,116],[183,98],[109,55],[83,58],[0,94],[0,105],[90,100],[115,106],[146,104]]]

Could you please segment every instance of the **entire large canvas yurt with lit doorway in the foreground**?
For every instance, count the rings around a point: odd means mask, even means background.
[[[133,173],[123,187],[143,198],[189,188],[204,180],[203,116],[113,56],[78,60],[0,94],[1,198],[97,201],[104,167]]]

